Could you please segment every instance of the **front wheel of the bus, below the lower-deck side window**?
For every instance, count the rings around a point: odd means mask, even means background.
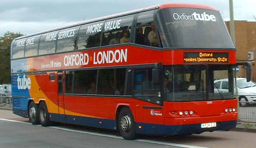
[[[118,116],[118,129],[120,135],[126,140],[136,139],[136,126],[132,111],[129,107],[123,107]]]

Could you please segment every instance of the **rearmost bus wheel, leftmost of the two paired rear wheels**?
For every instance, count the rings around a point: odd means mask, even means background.
[[[37,125],[39,124],[39,118],[38,118],[38,105],[36,105],[36,103],[34,101],[29,103],[29,107],[28,107],[28,117],[29,117],[29,121],[33,124],[33,125]]]

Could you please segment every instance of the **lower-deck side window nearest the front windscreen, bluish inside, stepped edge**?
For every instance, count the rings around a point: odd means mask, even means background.
[[[152,68],[134,70],[133,96],[144,101],[160,104],[161,93],[159,84],[152,83]]]

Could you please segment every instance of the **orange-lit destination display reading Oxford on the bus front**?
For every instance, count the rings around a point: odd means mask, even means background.
[[[184,63],[228,63],[228,52],[185,52]]]

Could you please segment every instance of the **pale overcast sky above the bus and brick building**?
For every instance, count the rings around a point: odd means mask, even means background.
[[[0,0],[0,36],[31,34],[161,3],[205,4],[229,20],[229,0]],[[233,0],[234,19],[256,21],[256,0]]]

